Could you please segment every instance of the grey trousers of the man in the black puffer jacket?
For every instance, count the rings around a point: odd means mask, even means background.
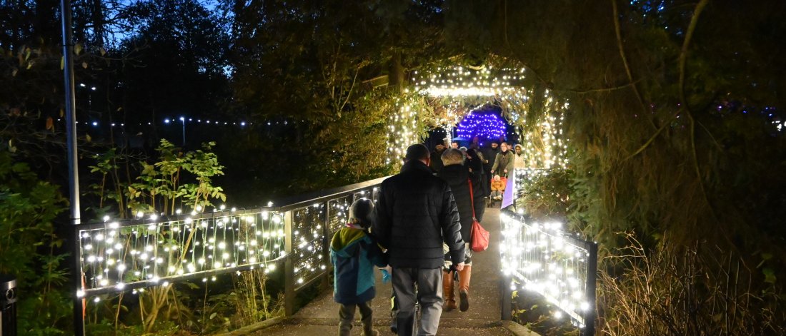
[[[415,301],[421,306],[417,335],[437,334],[443,305],[442,276],[442,268],[393,268],[393,290],[399,304],[396,313],[399,336],[415,334]]]

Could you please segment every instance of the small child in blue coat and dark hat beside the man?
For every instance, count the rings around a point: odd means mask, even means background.
[[[349,335],[354,310],[360,310],[363,335],[376,336],[373,329],[371,299],[374,289],[374,266],[387,265],[384,254],[369,236],[368,229],[375,217],[374,203],[358,199],[349,210],[349,221],[330,242],[330,261],[333,264],[333,299],[340,304],[339,335]]]

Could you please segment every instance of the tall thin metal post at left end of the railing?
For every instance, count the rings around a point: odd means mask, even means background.
[[[80,224],[79,214],[79,166],[76,152],[76,111],[74,94],[74,41],[71,26],[71,0],[61,0],[61,24],[63,30],[63,77],[65,92],[65,123],[66,142],[68,143],[68,195],[70,199],[69,218],[71,225]],[[74,226],[75,234],[72,242],[71,272],[72,289],[82,288],[82,263],[79,261],[79,231]],[[85,321],[83,316],[83,301],[76,295],[76,290],[71,293],[74,299],[74,334],[85,334]]]

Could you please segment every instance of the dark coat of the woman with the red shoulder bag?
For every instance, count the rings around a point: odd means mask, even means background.
[[[450,165],[443,167],[443,170],[437,174],[450,185],[450,190],[453,191],[453,197],[456,199],[456,206],[458,207],[458,217],[461,221],[461,239],[465,242],[470,241],[470,234],[472,233],[472,207],[475,207],[475,217],[478,221],[483,219],[483,212],[486,211],[486,205],[483,203],[483,187],[481,187],[481,180],[478,174],[469,173],[467,166]],[[472,179],[472,194],[474,195],[475,203],[469,197],[469,183],[468,179]]]

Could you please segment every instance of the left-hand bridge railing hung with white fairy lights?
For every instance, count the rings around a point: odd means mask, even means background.
[[[355,199],[376,200],[384,178],[286,199],[253,210],[217,208],[207,213],[77,225],[78,298],[168,286],[185,279],[263,268],[285,272],[285,314],[294,297],[330,271],[329,239],[347,219]],[[200,209],[201,210],[201,209]],[[197,210],[198,211],[198,210]]]

